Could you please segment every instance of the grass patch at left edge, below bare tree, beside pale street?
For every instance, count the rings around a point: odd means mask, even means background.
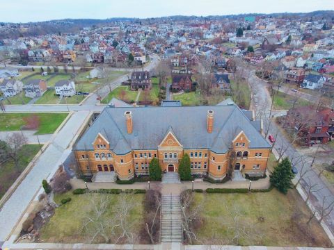
[[[19,150],[19,165],[15,167],[13,160],[8,160],[0,165],[0,199],[6,193],[8,188],[16,181],[19,174],[23,172],[36,153],[40,150],[37,144],[24,145]]]

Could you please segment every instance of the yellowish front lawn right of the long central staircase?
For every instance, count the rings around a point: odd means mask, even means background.
[[[331,247],[316,220],[307,226],[310,210],[296,190],[287,195],[276,189],[250,194],[196,193],[195,200],[194,206],[203,202],[204,219],[197,227],[196,243]],[[236,228],[244,228],[248,235]]]

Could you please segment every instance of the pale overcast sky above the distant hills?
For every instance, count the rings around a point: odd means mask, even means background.
[[[334,10],[334,0],[0,0],[0,22]]]

